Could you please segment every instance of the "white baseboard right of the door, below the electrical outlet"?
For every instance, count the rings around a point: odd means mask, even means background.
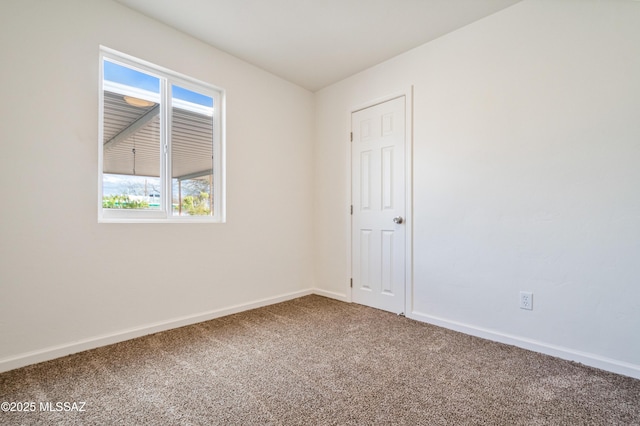
[[[627,363],[624,361],[618,361],[611,358],[602,357],[595,354],[576,351],[573,349],[565,348],[562,346],[552,345],[532,339],[526,339],[519,336],[513,336],[509,334],[499,333],[495,330],[485,329],[482,327],[476,327],[470,324],[463,324],[456,321],[450,321],[444,318],[435,317],[432,315],[424,314],[421,312],[412,312],[411,315],[407,315],[409,318],[420,322],[426,322],[429,324],[437,325],[439,327],[447,328],[461,333],[469,334],[483,339],[492,340],[495,342],[505,343],[508,345],[517,346],[519,348],[528,349],[530,351],[539,352],[545,355],[555,356],[557,358],[566,359],[569,361],[579,362],[590,367],[599,368],[601,370],[610,371],[616,374],[622,374],[624,376],[640,379],[640,366]]]

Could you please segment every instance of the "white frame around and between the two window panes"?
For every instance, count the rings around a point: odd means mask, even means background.
[[[104,61],[124,65],[160,79],[160,145],[161,199],[160,210],[106,209],[103,198],[104,140]],[[100,46],[99,107],[98,107],[98,222],[100,223],[224,223],[225,222],[225,91],[212,84]],[[174,216],[171,206],[171,86],[202,93],[213,98],[213,215]]]

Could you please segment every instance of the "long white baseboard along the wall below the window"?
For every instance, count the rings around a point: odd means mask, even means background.
[[[250,309],[261,308],[263,306],[273,305],[275,303],[285,302],[287,300],[297,299],[298,297],[307,296],[315,293],[315,290],[308,289],[287,293],[276,297],[256,300],[249,303],[231,306],[223,309],[216,309],[209,312],[203,312],[195,315],[187,315],[184,317],[174,318],[167,321],[160,321],[147,324],[140,327],[134,327],[115,333],[104,334],[101,336],[91,337],[79,340],[77,342],[65,343],[56,346],[50,346],[32,352],[22,353],[16,356],[0,359],[0,373],[13,370],[27,365],[36,364],[38,362],[49,361],[55,358],[71,355],[74,353],[86,351],[89,349],[99,348],[101,346],[111,345],[113,343],[124,342],[125,340],[135,339],[161,331],[171,330],[185,325],[197,324],[199,322],[208,321],[214,318],[226,315],[236,314],[238,312],[248,311]],[[320,293],[318,293],[320,294]],[[322,294],[328,296],[327,294]]]

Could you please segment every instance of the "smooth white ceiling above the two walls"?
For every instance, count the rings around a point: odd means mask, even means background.
[[[116,0],[308,90],[521,0]]]

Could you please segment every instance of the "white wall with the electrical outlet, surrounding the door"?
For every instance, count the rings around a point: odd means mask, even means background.
[[[640,377],[639,46],[638,2],[525,0],[318,92],[318,286],[348,298],[349,111],[413,85],[411,316]]]

